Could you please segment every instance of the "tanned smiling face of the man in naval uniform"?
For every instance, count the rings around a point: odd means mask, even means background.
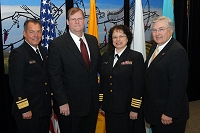
[[[24,30],[23,35],[25,40],[33,47],[37,48],[37,45],[42,39],[42,29],[38,23],[29,22],[27,29]]]

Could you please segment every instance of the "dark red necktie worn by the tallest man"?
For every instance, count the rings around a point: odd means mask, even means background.
[[[81,54],[83,56],[83,59],[87,65],[87,67],[90,68],[89,55],[88,55],[87,48],[86,48],[85,43],[83,42],[82,38],[80,38],[80,49],[81,49]]]

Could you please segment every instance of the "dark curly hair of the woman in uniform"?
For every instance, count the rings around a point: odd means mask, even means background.
[[[113,45],[113,39],[112,39],[112,34],[115,30],[122,30],[124,32],[124,34],[126,34],[126,36],[128,38],[127,47],[130,47],[132,40],[133,40],[133,34],[130,31],[130,29],[126,25],[115,25],[109,30],[108,49],[112,50],[112,49],[115,48],[114,45]]]

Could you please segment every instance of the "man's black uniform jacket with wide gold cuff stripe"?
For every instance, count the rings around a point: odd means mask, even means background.
[[[9,56],[9,83],[14,98],[12,114],[21,117],[32,111],[32,118],[50,116],[51,91],[46,69],[46,50],[39,46],[43,61],[25,41]]]

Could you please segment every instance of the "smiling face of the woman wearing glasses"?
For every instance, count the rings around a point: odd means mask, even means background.
[[[123,30],[116,29],[112,34],[112,41],[116,50],[120,52],[126,47],[128,38]]]

